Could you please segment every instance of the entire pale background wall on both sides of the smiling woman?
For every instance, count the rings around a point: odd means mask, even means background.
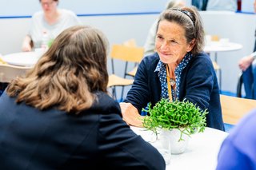
[[[235,93],[238,81],[238,60],[252,52],[254,47],[254,14],[235,14],[202,11],[202,19],[207,34],[217,34],[221,38],[230,38],[243,48],[234,52],[218,53],[218,64],[222,67],[222,90]],[[106,34],[112,43],[122,43],[135,38],[138,45],[143,45],[147,32],[158,14],[85,16],[80,17],[87,25],[95,26]],[[0,53],[21,51],[22,38],[30,26],[30,18],[0,19]],[[123,65],[117,72],[122,76]],[[128,88],[129,89],[129,88]]]

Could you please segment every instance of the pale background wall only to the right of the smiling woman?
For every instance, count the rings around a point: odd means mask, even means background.
[[[206,34],[229,38],[230,42],[243,45],[238,51],[218,53],[218,64],[222,68],[222,90],[235,93],[238,74],[241,73],[238,61],[254,49],[255,15],[210,11],[202,11],[201,14]]]

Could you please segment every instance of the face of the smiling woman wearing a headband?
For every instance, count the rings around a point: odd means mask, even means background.
[[[159,22],[155,39],[155,48],[160,60],[166,64],[182,61],[186,53],[193,49],[194,43],[187,43],[185,30],[175,22],[162,20]]]

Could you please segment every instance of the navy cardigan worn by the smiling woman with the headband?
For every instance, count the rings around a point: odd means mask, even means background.
[[[139,113],[149,102],[154,106],[161,99],[158,72],[154,72],[158,61],[158,53],[143,58],[134,77],[134,84],[124,100],[134,105]],[[202,110],[208,109],[208,127],[224,130],[218,81],[212,61],[206,53],[192,57],[182,70],[178,100],[182,101],[184,98],[197,104]]]

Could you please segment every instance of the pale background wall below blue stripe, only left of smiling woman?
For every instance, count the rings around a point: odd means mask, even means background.
[[[110,45],[134,38],[137,44],[142,46],[145,42],[147,31],[157,17],[158,14],[142,14],[79,18],[83,24],[102,30],[109,39]],[[0,19],[0,26],[0,53],[5,55],[21,52],[22,39],[30,27],[30,18]],[[117,65],[119,70],[115,70],[116,73],[123,76],[124,65],[119,62]],[[110,61],[108,61],[108,68],[110,68]]]

